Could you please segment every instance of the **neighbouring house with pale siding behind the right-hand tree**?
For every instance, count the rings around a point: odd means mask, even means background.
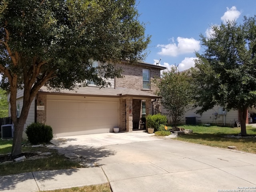
[[[188,110],[182,117],[180,123],[182,124],[212,124],[220,126],[231,126],[240,122],[238,110],[225,110],[220,106],[214,106],[214,108],[204,112],[202,116],[196,114],[196,110],[199,108]],[[167,114],[166,109],[162,106],[161,112]],[[250,119],[250,117],[249,117]],[[171,122],[171,117],[168,116],[168,121]],[[248,124],[248,118],[246,124]]]

